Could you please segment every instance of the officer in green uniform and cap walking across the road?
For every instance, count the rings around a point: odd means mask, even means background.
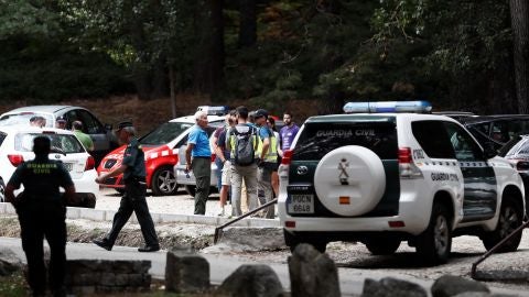
[[[125,223],[129,220],[132,211],[136,213],[138,223],[140,223],[141,233],[145,245],[138,249],[139,252],[155,252],[160,250],[154,222],[152,221],[149,207],[145,201],[145,162],[141,150],[136,129],[132,122],[126,121],[118,124],[116,131],[121,143],[127,144],[123,152],[121,166],[102,174],[96,178],[96,183],[101,184],[105,179],[123,174],[125,194],[121,198],[118,212],[114,216],[112,228],[110,232],[101,239],[93,242],[100,248],[110,251],[118,238]]]

